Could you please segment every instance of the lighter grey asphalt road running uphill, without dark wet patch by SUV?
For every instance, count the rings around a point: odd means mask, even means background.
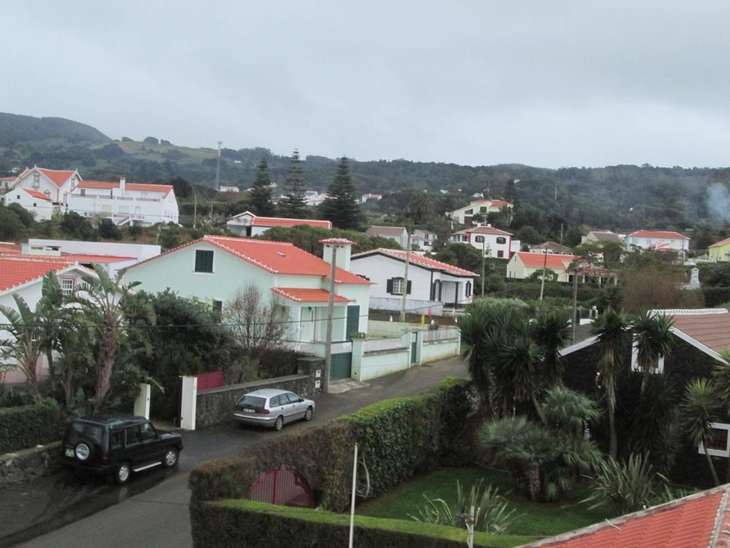
[[[286,435],[287,432],[299,428],[321,424],[376,401],[422,392],[447,376],[465,375],[466,368],[460,359],[447,359],[376,379],[368,387],[342,394],[321,395],[317,400],[317,411],[312,422],[288,425],[280,433],[240,427],[232,422],[185,433],[185,450],[180,455],[177,473],[150,471],[133,479],[128,487],[104,488],[99,495],[104,499],[97,501],[99,507],[107,506],[106,508],[51,533],[38,536],[21,546],[192,547],[188,514],[188,475],[199,463],[239,452],[265,437]],[[110,500],[115,501],[112,506],[108,506]],[[93,497],[89,499],[92,505],[94,501]],[[85,513],[88,514],[88,507],[86,510]]]

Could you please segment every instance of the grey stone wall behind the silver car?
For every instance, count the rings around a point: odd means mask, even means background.
[[[243,395],[254,390],[280,388],[295,392],[301,397],[313,399],[321,392],[321,388],[317,386],[321,376],[317,376],[317,371],[324,370],[324,360],[321,358],[300,358],[298,365],[299,373],[296,375],[200,390],[196,401],[196,428],[218,425],[221,422],[233,420],[233,406],[235,403]]]

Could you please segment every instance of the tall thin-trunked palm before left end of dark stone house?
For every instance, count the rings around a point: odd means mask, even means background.
[[[606,391],[610,444],[608,454],[615,460],[618,453],[616,435],[616,378],[623,368],[622,354],[627,346],[626,329],[629,327],[626,316],[608,308],[603,316],[593,324],[600,349],[598,362],[601,381]]]

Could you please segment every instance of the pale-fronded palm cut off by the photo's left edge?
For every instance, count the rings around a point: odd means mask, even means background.
[[[8,306],[0,305],[0,314],[7,318],[9,323],[4,324],[3,330],[9,333],[8,338],[0,339],[0,369],[19,368],[26,377],[28,391],[34,403],[43,403],[43,397],[38,389],[36,367],[42,354],[42,326],[39,319],[39,307],[34,311],[28,306],[23,297],[14,294],[17,311]]]

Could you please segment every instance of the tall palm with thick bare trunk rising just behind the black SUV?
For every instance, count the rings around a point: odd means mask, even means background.
[[[125,269],[119,270],[112,280],[99,265],[93,265],[96,278],[87,276],[74,291],[74,298],[85,312],[85,319],[99,336],[100,349],[95,363],[94,411],[99,412],[112,387],[120,336],[124,325],[120,301],[139,282],[122,283]]]

